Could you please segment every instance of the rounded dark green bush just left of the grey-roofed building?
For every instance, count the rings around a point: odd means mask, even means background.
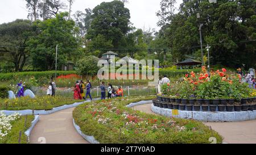
[[[88,56],[76,63],[77,74],[95,76],[98,73],[98,59],[94,56]]]

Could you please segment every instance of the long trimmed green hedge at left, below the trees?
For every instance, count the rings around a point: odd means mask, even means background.
[[[57,76],[67,75],[67,74],[75,74],[75,70],[71,71],[57,71]],[[35,77],[39,79],[40,77],[51,78],[55,76],[55,71],[45,71],[45,72],[17,72],[17,73],[0,73],[0,81],[8,81],[11,79],[24,79],[27,77]]]

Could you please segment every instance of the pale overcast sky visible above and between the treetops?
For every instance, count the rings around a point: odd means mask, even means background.
[[[63,0],[64,2],[67,0]],[[112,0],[105,0],[111,2]],[[160,10],[161,0],[129,0],[125,4],[130,10],[131,22],[137,28],[159,28],[156,26],[158,17],[156,11]],[[75,0],[72,7],[72,13],[77,10],[84,11],[86,8],[93,9],[95,6],[100,5],[102,0]],[[182,0],[177,0],[178,7]],[[27,19],[26,2],[24,0],[0,0],[0,24],[12,22],[15,19]]]

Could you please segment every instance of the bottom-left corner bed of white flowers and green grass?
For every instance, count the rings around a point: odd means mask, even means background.
[[[19,143],[19,132],[22,132],[20,137],[21,144],[27,144],[27,136],[24,134],[30,125],[34,116],[20,116],[19,114],[13,114],[6,116],[0,114],[0,144],[17,144]]]

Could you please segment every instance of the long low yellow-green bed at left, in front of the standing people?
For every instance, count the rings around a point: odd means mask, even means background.
[[[75,102],[82,102],[82,100],[59,96],[42,96],[34,99],[30,97],[0,99],[0,110],[52,110],[54,107],[63,106],[64,104],[73,104]]]

